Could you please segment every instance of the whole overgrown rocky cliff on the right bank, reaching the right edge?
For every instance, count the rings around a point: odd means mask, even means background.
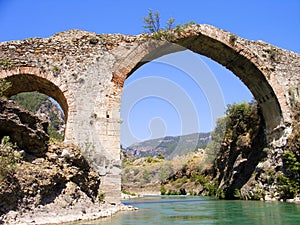
[[[165,187],[176,183],[178,190],[195,181],[196,194],[222,199],[299,201],[300,104],[295,102],[293,108],[292,134],[282,147],[276,147],[267,144],[265,122],[257,104],[230,106],[212,133],[215,143],[206,149],[218,148],[213,165],[199,171],[187,163],[168,178]],[[223,126],[224,133],[219,132]]]

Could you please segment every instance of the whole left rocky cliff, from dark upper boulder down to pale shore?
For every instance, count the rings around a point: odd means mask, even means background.
[[[0,224],[61,223],[110,216],[99,174],[80,149],[48,145],[47,122],[0,99]]]

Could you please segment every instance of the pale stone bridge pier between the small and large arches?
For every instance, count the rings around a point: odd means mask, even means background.
[[[100,190],[109,203],[121,200],[120,95],[112,80],[114,60],[102,54],[77,75],[73,89],[65,141],[80,147],[90,165],[100,174]]]

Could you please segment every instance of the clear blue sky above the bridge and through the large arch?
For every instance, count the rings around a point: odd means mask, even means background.
[[[149,9],[160,13],[162,26],[170,17],[177,24],[195,21],[300,53],[299,0],[0,0],[0,41],[69,29],[137,35],[145,32]],[[164,56],[126,80],[121,143],[211,131],[227,104],[252,98],[234,74],[212,60],[189,51]]]

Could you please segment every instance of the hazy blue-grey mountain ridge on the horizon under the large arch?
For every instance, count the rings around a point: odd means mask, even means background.
[[[166,159],[204,149],[210,140],[210,133],[194,133],[183,136],[167,136],[133,144],[125,149],[129,157],[155,157],[159,153]]]

